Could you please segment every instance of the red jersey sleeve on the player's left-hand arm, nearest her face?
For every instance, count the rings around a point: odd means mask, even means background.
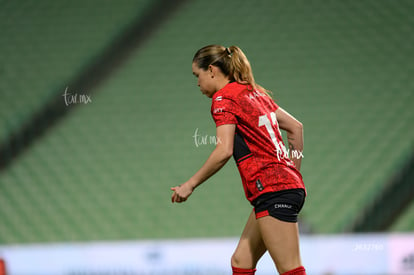
[[[213,99],[211,115],[216,123],[216,127],[224,124],[237,124],[236,110],[235,103],[231,99],[221,96]]]

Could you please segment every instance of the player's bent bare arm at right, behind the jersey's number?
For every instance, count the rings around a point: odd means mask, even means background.
[[[280,107],[276,111],[276,118],[279,128],[286,131],[290,159],[295,163],[296,168],[300,170],[303,157],[303,125]]]

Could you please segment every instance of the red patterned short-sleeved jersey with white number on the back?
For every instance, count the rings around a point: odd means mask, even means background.
[[[267,192],[305,189],[283,143],[278,108],[265,93],[237,82],[227,84],[212,98],[216,127],[236,124],[233,157],[250,202]]]

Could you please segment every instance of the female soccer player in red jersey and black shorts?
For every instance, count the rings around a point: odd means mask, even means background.
[[[171,188],[172,202],[186,201],[233,155],[246,197],[254,206],[231,258],[233,274],[254,274],[266,250],[280,274],[306,274],[297,225],[306,196],[299,173],[302,124],[256,84],[249,61],[236,46],[201,48],[192,70],[201,92],[212,98],[218,143],[200,170]],[[279,128],[287,132],[289,151]]]

